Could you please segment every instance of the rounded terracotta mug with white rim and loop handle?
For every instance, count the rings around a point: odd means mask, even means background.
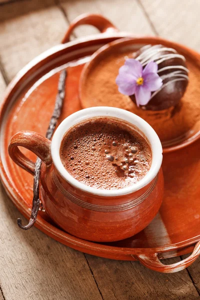
[[[97,189],[84,185],[64,168],[60,143],[65,132],[80,121],[111,116],[129,122],[149,143],[152,162],[138,182],[121,189]],[[34,173],[34,162],[18,149],[23,146],[43,161],[40,171],[40,198],[57,225],[77,237],[92,241],[115,241],[132,236],[146,227],[157,213],[163,197],[162,147],[152,127],[139,116],[115,107],[92,107],[66,117],[52,141],[33,131],[12,136],[9,155],[19,166]]]

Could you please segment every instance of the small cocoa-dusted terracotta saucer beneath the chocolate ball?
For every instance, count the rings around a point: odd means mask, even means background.
[[[163,44],[186,58],[189,83],[179,105],[162,111],[142,110],[118,91],[115,78],[125,57],[147,44]],[[157,132],[164,152],[174,151],[200,136],[200,54],[160,37],[121,38],[98,49],[84,66],[79,83],[81,106],[116,106],[144,118]],[[191,102],[191,97],[194,99]]]

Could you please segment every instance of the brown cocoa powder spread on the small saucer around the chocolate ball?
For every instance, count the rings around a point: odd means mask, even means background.
[[[200,67],[186,57],[189,69],[189,83],[179,104],[165,110],[150,111],[137,107],[129,96],[118,92],[115,83],[118,69],[124,59],[132,57],[130,51],[114,52],[104,57],[89,69],[82,85],[81,103],[83,107],[115,106],[129,110],[146,120],[156,131],[161,141],[168,141],[183,135],[200,120]]]

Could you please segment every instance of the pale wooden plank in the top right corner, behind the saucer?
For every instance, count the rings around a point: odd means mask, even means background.
[[[159,35],[200,51],[200,1],[140,1]]]

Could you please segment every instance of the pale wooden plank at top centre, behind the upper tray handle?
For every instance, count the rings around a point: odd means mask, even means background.
[[[136,0],[80,0],[60,1],[71,22],[81,13],[100,13],[108,18],[119,30],[130,31],[135,35],[153,34],[144,12]],[[76,36],[84,36],[98,32],[91,26],[81,26],[74,30]]]

